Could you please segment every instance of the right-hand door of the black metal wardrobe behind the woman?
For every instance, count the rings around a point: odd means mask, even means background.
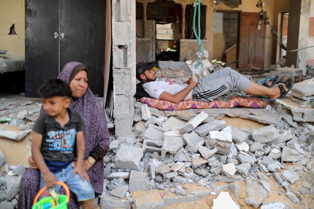
[[[104,95],[105,64],[104,0],[60,1],[60,70],[71,61],[82,62],[89,70],[88,86]]]

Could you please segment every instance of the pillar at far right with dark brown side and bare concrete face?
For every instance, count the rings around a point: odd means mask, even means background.
[[[307,46],[311,0],[289,1],[289,22],[286,65],[292,64],[306,74],[306,49],[289,52]]]

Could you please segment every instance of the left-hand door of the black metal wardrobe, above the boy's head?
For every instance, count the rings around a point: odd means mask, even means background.
[[[59,0],[25,1],[25,95],[38,97],[44,80],[57,78],[59,68]]]

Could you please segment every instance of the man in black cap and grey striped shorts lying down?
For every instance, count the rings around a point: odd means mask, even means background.
[[[138,62],[136,64],[136,78],[152,98],[176,104],[182,100],[210,102],[230,92],[233,88],[246,94],[266,95],[269,96],[269,99],[280,99],[287,95],[294,83],[294,77],[292,77],[292,80],[288,79],[283,85],[279,84],[278,87],[269,88],[267,86],[272,86],[273,80],[260,85],[250,81],[230,67],[208,74],[205,78],[199,78],[196,83],[193,82],[192,78],[184,83],[178,83],[166,78],[156,78],[154,71],[152,71],[154,66],[155,61]]]

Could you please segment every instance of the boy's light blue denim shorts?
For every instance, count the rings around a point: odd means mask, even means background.
[[[56,177],[58,178],[58,181],[64,182],[66,185],[68,185],[69,189],[76,195],[78,201],[94,199],[95,191],[92,185],[86,179],[82,181],[78,173],[75,173],[74,177],[72,177],[71,175],[73,169],[74,168],[70,163],[67,168],[62,169],[61,171],[55,173]],[[40,188],[43,188],[44,186],[45,186],[44,177],[41,173]],[[61,185],[57,184],[55,186],[55,191],[59,193],[60,189]]]

